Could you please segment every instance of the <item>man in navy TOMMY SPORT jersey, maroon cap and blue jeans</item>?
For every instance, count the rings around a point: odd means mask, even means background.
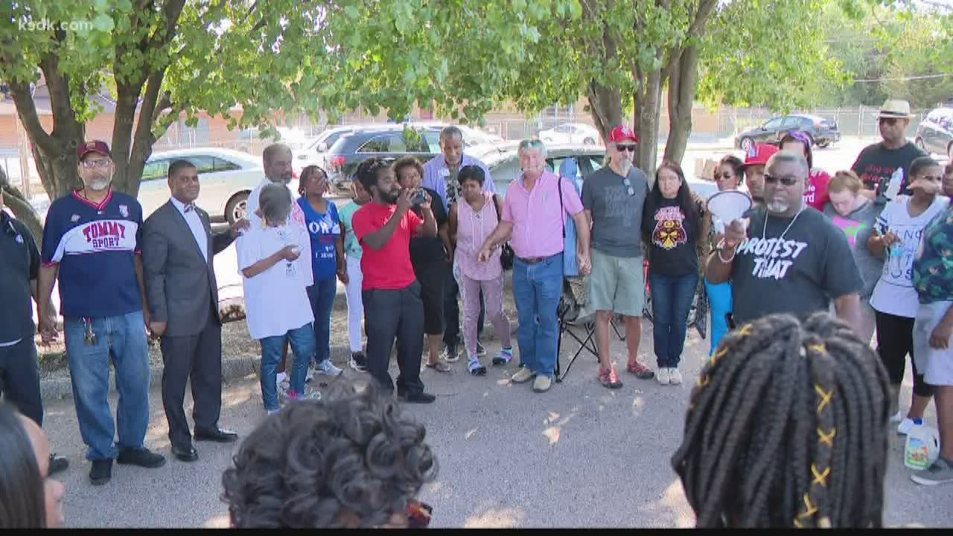
[[[79,431],[92,462],[92,484],[112,478],[119,464],[159,467],[166,460],[143,446],[149,426],[149,347],[139,238],[142,207],[112,190],[112,155],[103,141],[79,147],[83,189],[53,201],[43,228],[39,331],[56,337],[50,295],[59,278],[60,313]],[[115,368],[118,442],[109,399]]]

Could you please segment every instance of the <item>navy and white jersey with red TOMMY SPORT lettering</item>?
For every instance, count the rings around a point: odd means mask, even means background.
[[[96,204],[73,192],[53,201],[43,227],[43,264],[59,263],[60,313],[68,319],[142,310],[135,256],[142,206],[110,191]]]

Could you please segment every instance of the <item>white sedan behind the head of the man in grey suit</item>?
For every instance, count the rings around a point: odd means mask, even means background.
[[[146,160],[139,185],[143,217],[169,200],[169,165],[185,159],[198,170],[201,191],[195,204],[231,224],[245,216],[245,202],[265,176],[261,159],[229,149],[182,149],[154,153]]]

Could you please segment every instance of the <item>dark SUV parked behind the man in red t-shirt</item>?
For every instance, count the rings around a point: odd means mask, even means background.
[[[328,177],[338,192],[348,192],[352,176],[361,162],[371,157],[399,158],[416,156],[427,162],[440,154],[440,130],[432,128],[358,129],[343,134],[325,155]]]

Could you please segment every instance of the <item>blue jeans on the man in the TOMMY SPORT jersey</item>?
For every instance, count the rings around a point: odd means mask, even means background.
[[[149,427],[149,346],[142,311],[92,319],[96,343],[86,344],[82,319],[63,321],[72,398],[90,461],[112,460],[120,449],[139,448]],[[115,367],[115,426],[110,408],[110,361]],[[115,428],[119,441],[113,443]]]

